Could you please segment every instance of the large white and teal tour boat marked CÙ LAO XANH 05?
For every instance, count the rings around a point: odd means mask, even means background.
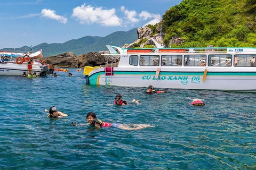
[[[256,91],[256,48],[107,47],[107,56],[120,56],[119,64],[85,67],[90,84]]]

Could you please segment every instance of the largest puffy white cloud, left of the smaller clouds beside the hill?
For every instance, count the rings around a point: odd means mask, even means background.
[[[119,26],[123,22],[116,15],[115,8],[105,10],[102,7],[86,6],[85,3],[75,7],[71,17],[76,18],[81,24],[99,23],[104,26]]]

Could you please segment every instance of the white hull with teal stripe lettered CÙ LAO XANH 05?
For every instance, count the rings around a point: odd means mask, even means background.
[[[89,74],[91,84],[114,85],[130,87],[148,87],[171,89],[197,89],[222,91],[256,91],[255,68],[243,71],[236,68],[225,68],[220,72],[218,68],[193,67],[193,69],[161,68],[156,74],[157,67],[118,68],[114,67],[113,75],[105,75],[103,68],[95,69]]]

